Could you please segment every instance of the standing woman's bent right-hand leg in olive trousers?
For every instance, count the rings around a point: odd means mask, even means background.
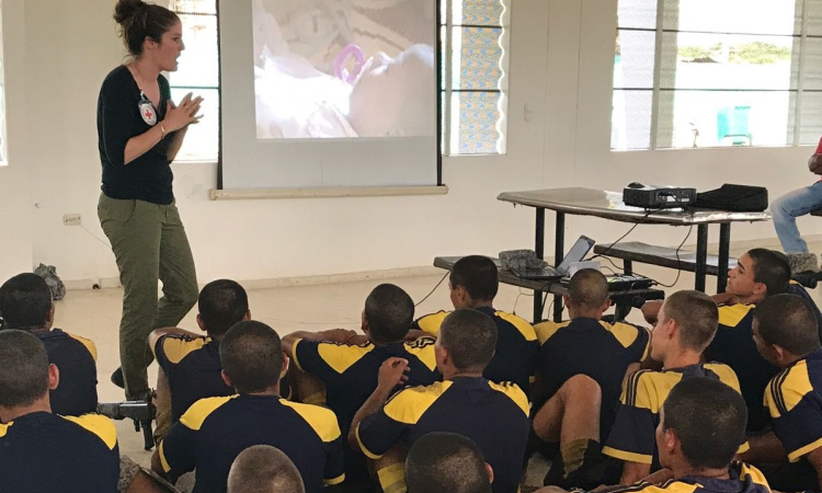
[[[197,302],[199,291],[189,238],[174,204],[163,206],[160,280],[163,296],[157,306],[153,328],[176,326]]]

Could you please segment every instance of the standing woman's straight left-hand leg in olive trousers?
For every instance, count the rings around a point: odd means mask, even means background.
[[[162,217],[160,206],[142,200],[119,200],[101,195],[100,223],[112,243],[123,285],[119,359],[127,399],[149,391],[146,368],[151,363],[148,334],[157,313]]]

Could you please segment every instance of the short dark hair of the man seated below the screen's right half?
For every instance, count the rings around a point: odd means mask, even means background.
[[[380,284],[365,299],[365,319],[376,342],[402,341],[414,322],[414,301],[399,286]]]

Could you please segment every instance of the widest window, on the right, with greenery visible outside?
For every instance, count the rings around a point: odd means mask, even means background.
[[[612,149],[815,144],[822,2],[619,0]]]

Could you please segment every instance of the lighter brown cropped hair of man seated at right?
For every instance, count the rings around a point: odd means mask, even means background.
[[[713,341],[719,325],[717,302],[705,293],[676,291],[665,299],[665,317],[676,320],[680,343],[701,353]]]

